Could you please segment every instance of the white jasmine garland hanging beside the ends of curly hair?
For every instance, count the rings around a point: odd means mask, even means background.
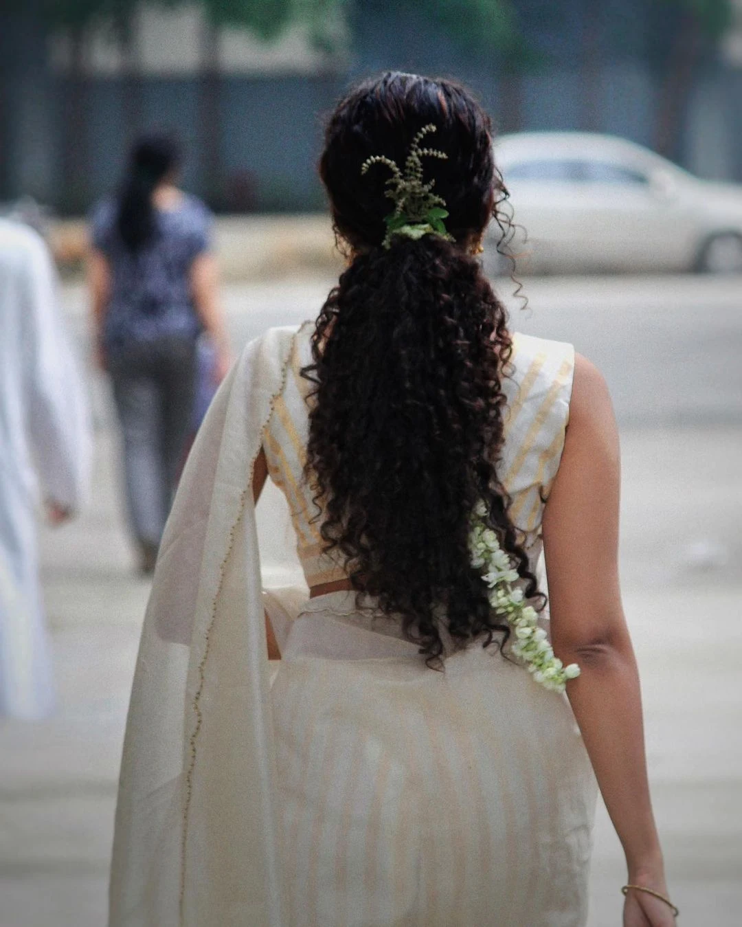
[[[489,603],[498,615],[506,617],[513,631],[512,653],[519,657],[536,682],[553,692],[564,692],[567,679],[580,675],[580,667],[571,663],[565,667],[554,656],[547,632],[538,627],[538,616],[532,605],[525,602],[523,590],[513,583],[520,575],[513,569],[508,554],[502,550],[497,533],[484,522],[486,508],[480,500],[474,506],[469,550],[472,566],[482,570],[482,579],[489,589]]]

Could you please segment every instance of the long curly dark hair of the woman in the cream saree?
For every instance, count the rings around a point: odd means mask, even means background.
[[[446,200],[446,228],[384,248],[384,171],[361,175],[372,155],[402,165],[422,126],[447,159],[427,158],[425,180]],[[321,309],[313,362],[306,476],[321,511],[326,551],[340,552],[354,588],[400,616],[429,666],[509,628],[472,568],[472,509],[537,597],[522,537],[497,478],[511,352],[507,314],[472,257],[507,192],[495,168],[490,121],[463,87],[385,73],[355,87],[328,122],[320,161],[336,235],[351,261]],[[320,517],[318,515],[318,517]]]

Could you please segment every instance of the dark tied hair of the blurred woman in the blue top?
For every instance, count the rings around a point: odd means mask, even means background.
[[[169,135],[143,135],[132,146],[119,192],[117,228],[124,246],[135,253],[157,234],[152,195],[180,164],[180,152]]]

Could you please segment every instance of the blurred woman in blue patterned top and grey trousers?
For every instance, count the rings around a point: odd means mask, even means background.
[[[167,135],[140,138],[116,197],[92,215],[88,280],[95,342],[123,436],[126,499],[142,572],[151,573],[192,428],[198,340],[230,352],[209,250],[211,214],[177,186],[181,155]]]

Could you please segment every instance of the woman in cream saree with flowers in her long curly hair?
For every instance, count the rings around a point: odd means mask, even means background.
[[[335,109],[321,178],[349,265],[316,321],[247,345],[163,541],[110,925],[584,927],[597,778],[624,927],[673,927],[610,398],[484,276],[490,121],[384,74]],[[296,590],[262,590],[269,476]]]

